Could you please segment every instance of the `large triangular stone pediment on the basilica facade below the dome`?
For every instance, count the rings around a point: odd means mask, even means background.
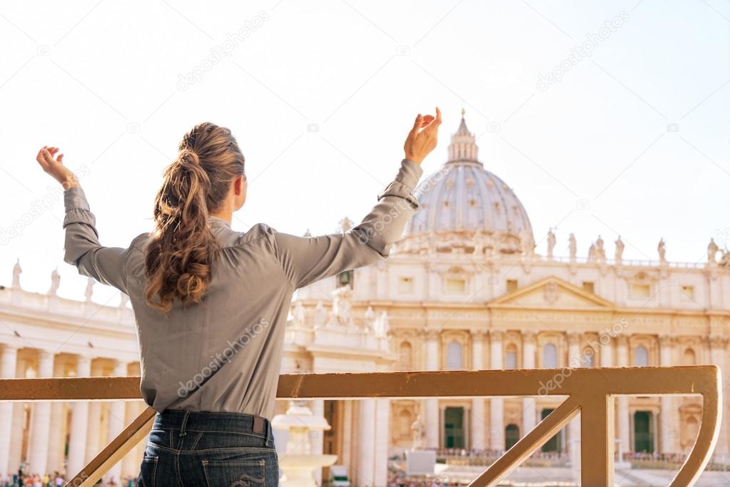
[[[488,303],[490,308],[610,309],[609,300],[550,276],[516,289]]]

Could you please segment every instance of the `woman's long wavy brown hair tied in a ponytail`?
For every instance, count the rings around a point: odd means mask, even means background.
[[[245,159],[231,130],[210,122],[186,133],[155,198],[155,230],[147,246],[148,305],[167,313],[175,299],[200,303],[218,243],[208,216],[220,208]]]

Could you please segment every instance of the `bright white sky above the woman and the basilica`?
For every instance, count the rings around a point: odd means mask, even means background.
[[[558,254],[570,232],[579,255],[599,234],[634,259],[656,259],[661,237],[675,261],[730,245],[727,1],[6,2],[0,50],[0,284],[20,257],[26,289],[46,292],[59,265],[60,294],[83,296],[42,145],[82,171],[107,246],[150,230],[161,171],[206,120],[247,159],[234,227],[330,233],[366,214],[436,105],[426,171],[464,107],[485,168],[538,241],[557,228]]]

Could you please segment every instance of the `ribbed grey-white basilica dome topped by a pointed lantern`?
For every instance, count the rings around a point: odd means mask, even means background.
[[[530,252],[534,236],[525,208],[502,179],[485,170],[478,151],[462,112],[447,162],[415,191],[420,209],[408,222],[401,251]]]

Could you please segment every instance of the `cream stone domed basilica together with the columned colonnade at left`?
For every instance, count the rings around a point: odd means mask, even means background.
[[[623,259],[619,238],[607,257],[598,238],[587,257],[572,235],[569,255],[553,253],[550,231],[536,245],[526,210],[485,170],[461,120],[447,162],[420,184],[420,211],[388,260],[297,292],[285,334],[283,373],[394,370],[504,370],[728,361],[730,254],[714,243],[707,260]],[[351,223],[341,222],[341,230]],[[547,249],[539,254],[536,249]],[[28,292],[16,266],[0,289],[0,376],[135,375],[139,356],[126,297],[96,303]],[[724,387],[729,385],[723,378]],[[355,486],[384,486],[388,458],[423,432],[424,448],[496,455],[514,444],[560,398],[545,384],[531,397],[313,400],[331,429],[312,432],[312,453],[334,453]],[[280,413],[287,408],[280,402]],[[728,408],[716,456],[730,453]],[[134,402],[0,403],[0,473],[77,471],[143,408]],[[702,418],[699,397],[621,397],[617,450],[682,454]],[[570,455],[573,421],[542,448]],[[285,444],[277,437],[277,443]],[[138,445],[107,478],[137,474]]]

